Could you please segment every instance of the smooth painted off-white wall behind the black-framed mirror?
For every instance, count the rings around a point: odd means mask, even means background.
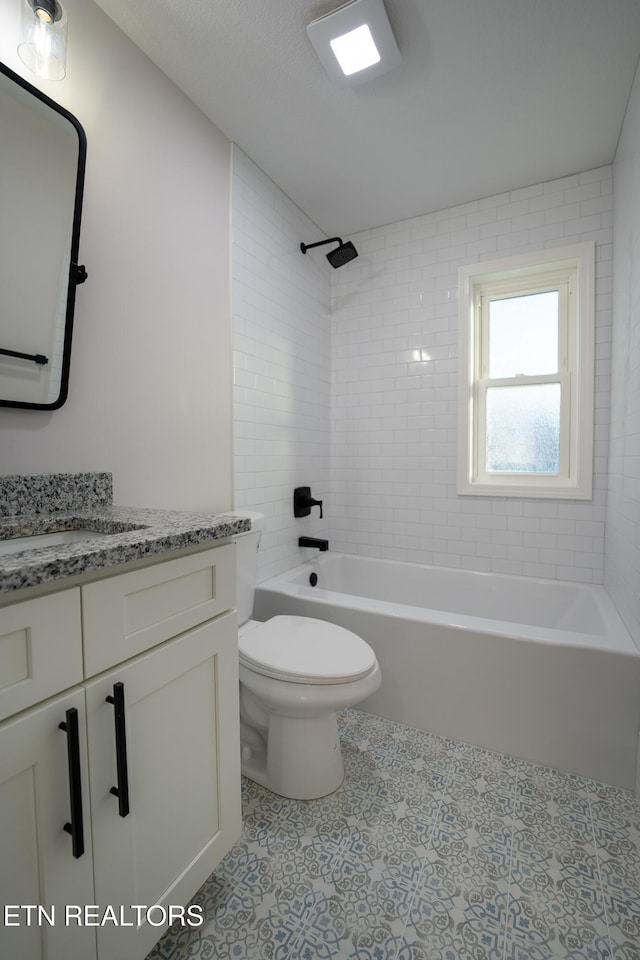
[[[87,134],[69,399],[0,408],[0,473],[109,470],[119,504],[228,509],[230,146],[90,0],[65,0],[66,78]],[[0,59],[17,0],[0,0]],[[29,281],[27,281],[29,282]]]

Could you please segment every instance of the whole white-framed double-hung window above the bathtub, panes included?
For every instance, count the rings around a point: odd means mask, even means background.
[[[462,267],[458,493],[591,498],[594,244]]]

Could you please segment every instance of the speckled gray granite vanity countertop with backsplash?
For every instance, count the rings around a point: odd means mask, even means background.
[[[82,482],[69,481],[78,477]],[[69,481],[72,492],[52,497],[52,484],[43,484],[41,477],[0,477],[0,504],[4,505],[4,509],[0,506],[0,548],[2,541],[15,537],[60,530],[89,529],[96,536],[87,534],[87,539],[49,546],[25,543],[24,548],[8,554],[0,550],[0,595],[5,600],[25,588],[101,570],[108,573],[110,567],[132,561],[161,560],[163,553],[175,550],[215,546],[217,540],[251,527],[250,520],[235,515],[114,507],[109,474],[55,475],[57,491],[60,478]],[[7,504],[13,513],[8,512]],[[53,509],[47,509],[49,506]]]

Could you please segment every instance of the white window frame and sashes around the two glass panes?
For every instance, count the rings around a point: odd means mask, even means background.
[[[489,297],[558,289],[558,372],[489,379]],[[460,267],[458,493],[590,500],[593,477],[595,243],[587,242]],[[485,321],[483,322],[483,306]],[[489,386],[559,383],[560,472],[487,473],[485,401]]]

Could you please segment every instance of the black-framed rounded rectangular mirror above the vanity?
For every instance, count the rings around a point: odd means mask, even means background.
[[[76,118],[0,63],[0,406],[67,399],[85,158]]]

